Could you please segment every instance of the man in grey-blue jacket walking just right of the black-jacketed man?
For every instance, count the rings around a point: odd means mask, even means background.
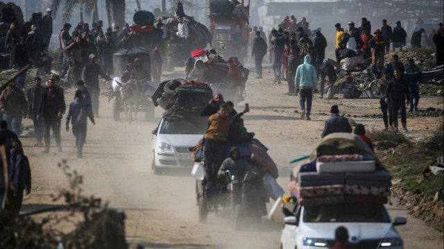
[[[72,120],[71,120],[72,118]],[[83,99],[82,91],[77,90],[74,101],[69,105],[66,129],[69,131],[69,121],[72,124],[72,133],[76,137],[77,157],[83,157],[83,144],[85,144],[87,131],[87,118],[91,120],[94,126],[94,114],[92,114],[91,105]]]

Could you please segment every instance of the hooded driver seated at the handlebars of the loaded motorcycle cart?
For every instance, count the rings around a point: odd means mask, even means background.
[[[230,171],[231,175],[237,176],[238,179],[244,179],[247,172],[255,174],[256,172],[253,171],[251,165],[240,157],[239,148],[232,147],[230,157],[223,161],[221,168],[217,172],[217,178],[225,177],[225,171]]]

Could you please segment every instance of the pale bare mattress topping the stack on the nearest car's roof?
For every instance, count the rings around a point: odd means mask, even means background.
[[[372,172],[375,171],[375,161],[353,161],[353,162],[316,162],[318,173],[339,172]]]

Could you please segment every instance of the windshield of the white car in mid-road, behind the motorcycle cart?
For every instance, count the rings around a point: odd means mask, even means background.
[[[205,134],[207,122],[205,119],[193,121],[166,121],[162,122],[160,134]]]

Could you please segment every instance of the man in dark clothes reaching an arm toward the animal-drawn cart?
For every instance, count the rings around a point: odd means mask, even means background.
[[[99,75],[105,80],[112,80],[108,74],[97,64],[96,55],[94,53],[89,55],[89,63],[83,67],[82,79],[91,93],[92,111],[99,117]]]

